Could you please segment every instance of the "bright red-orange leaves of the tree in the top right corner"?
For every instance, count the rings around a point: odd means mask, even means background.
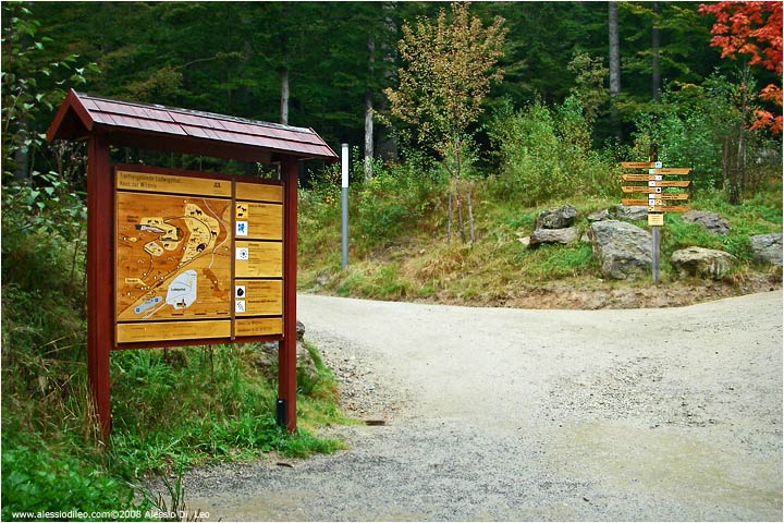
[[[782,2],[718,2],[701,4],[700,14],[716,17],[711,28],[711,46],[722,50],[722,58],[749,58],[749,65],[761,65],[782,74]],[[759,93],[760,99],[782,106],[782,88],[770,84]],[[770,127],[782,132],[782,115],[757,110],[751,129]]]

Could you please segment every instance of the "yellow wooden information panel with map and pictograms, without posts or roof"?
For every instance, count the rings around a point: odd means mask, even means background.
[[[283,187],[115,171],[117,344],[283,333]]]

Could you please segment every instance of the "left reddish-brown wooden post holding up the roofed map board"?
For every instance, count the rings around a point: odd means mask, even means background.
[[[87,369],[100,435],[111,431],[109,351],[114,346],[114,187],[106,136],[87,141]]]

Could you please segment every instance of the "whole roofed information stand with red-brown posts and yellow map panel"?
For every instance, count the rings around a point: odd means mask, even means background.
[[[111,430],[110,352],[277,341],[278,423],[296,429],[298,161],[311,129],[69,92],[47,139],[87,142],[87,373]],[[262,181],[112,163],[111,149],[277,165]]]

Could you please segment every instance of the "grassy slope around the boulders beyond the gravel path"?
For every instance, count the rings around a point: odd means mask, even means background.
[[[421,174],[425,179],[429,175]],[[385,183],[385,182],[384,182]],[[510,299],[536,289],[563,282],[572,287],[595,289],[604,281],[601,268],[590,243],[578,241],[569,245],[542,245],[527,248],[519,239],[535,229],[536,217],[547,208],[569,204],[577,208],[575,226],[580,235],[590,227],[587,216],[595,210],[613,208],[621,198],[604,196],[602,190],[595,195],[556,196],[543,203],[525,205],[522,202],[499,197],[495,178],[473,181],[475,192],[474,216],[478,240],[475,245],[454,241],[445,242],[446,187],[438,186],[428,194],[428,211],[412,219],[403,219],[393,229],[377,231],[368,240],[355,233],[355,223],[370,219],[354,202],[351,205],[350,263],[346,270],[340,265],[340,203],[320,199],[318,191],[305,191],[301,209],[299,288],[327,292],[340,296],[377,300],[431,301],[502,305]],[[620,185],[620,182],[617,182]],[[366,198],[367,187],[355,183],[353,200]],[[401,185],[408,191],[408,182]],[[663,281],[674,282],[678,275],[670,265],[670,257],[679,248],[702,246],[726,251],[737,258],[736,267],[725,278],[728,284],[743,281],[744,275],[767,272],[751,259],[749,236],[782,230],[781,182],[771,182],[749,194],[743,204],[733,206],[726,194],[701,191],[693,195],[690,207],[696,210],[719,212],[730,222],[730,232],[719,235],[699,224],[686,223],[682,215],[669,214],[662,228],[661,273]],[[394,191],[376,194],[375,208],[384,208],[390,202],[406,197]],[[412,204],[409,204],[412,205]],[[644,229],[647,221],[635,222]],[[316,239],[311,240],[310,235]],[[646,282],[649,281],[646,277]],[[641,280],[640,280],[641,281]],[[617,285],[638,285],[638,280],[610,282]],[[699,284],[698,282],[691,282]]]

